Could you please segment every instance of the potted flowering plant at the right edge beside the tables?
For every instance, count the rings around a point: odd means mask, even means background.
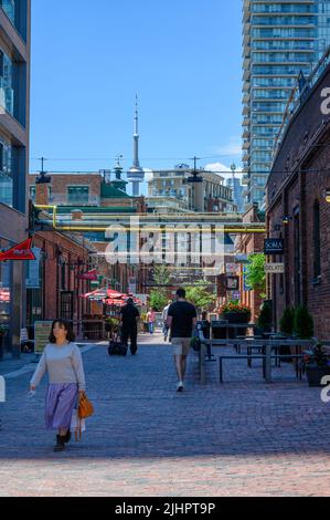
[[[301,367],[307,375],[309,386],[322,386],[322,377],[330,375],[330,361],[322,343],[317,343],[311,351],[304,353]]]

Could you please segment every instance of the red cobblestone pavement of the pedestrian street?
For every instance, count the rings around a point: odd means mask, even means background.
[[[87,347],[95,415],[82,443],[60,454],[43,425],[46,381],[26,398],[31,372],[8,377],[0,496],[330,495],[330,404],[320,388],[287,363],[265,384],[259,364],[246,361],[224,362],[223,385],[217,363],[206,363],[201,386],[193,353],[178,394],[171,349],[160,343],[143,336],[127,357]]]

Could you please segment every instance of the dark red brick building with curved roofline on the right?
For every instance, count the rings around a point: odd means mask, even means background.
[[[273,258],[285,262],[285,274],[269,280],[275,322],[286,306],[305,303],[320,339],[330,337],[329,87],[328,52],[304,91],[296,91],[267,184],[268,236],[285,242],[284,256]]]

